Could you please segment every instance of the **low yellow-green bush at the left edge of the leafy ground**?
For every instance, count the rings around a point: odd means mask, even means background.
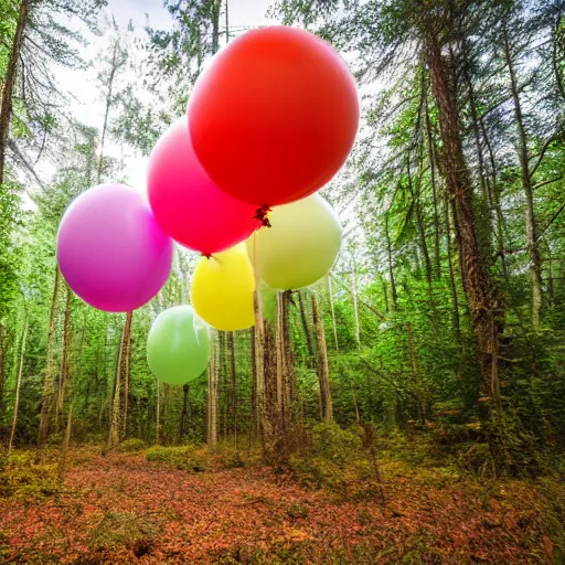
[[[11,451],[0,457],[0,497],[45,497],[58,490],[55,463],[39,463],[33,451]]]

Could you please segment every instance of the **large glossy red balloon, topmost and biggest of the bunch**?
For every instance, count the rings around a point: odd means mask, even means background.
[[[338,172],[355,138],[359,100],[329,43],[276,25],[217,53],[186,114],[196,156],[217,185],[271,206],[308,196]]]

